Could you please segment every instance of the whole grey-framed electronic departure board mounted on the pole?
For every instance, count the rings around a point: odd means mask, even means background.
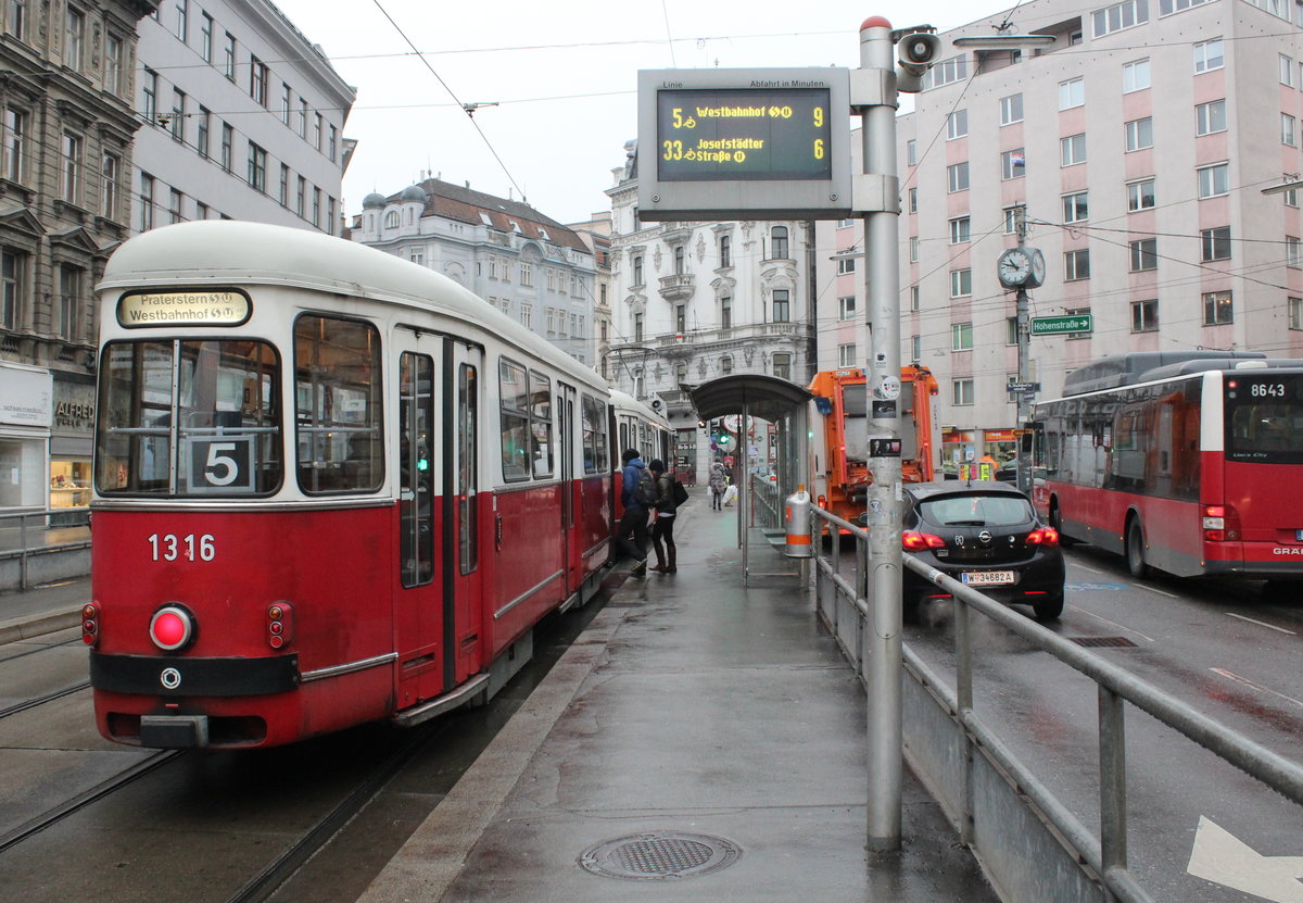
[[[636,154],[641,219],[844,218],[848,70],[642,70]]]

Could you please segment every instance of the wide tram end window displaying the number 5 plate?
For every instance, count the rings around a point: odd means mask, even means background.
[[[275,492],[283,479],[279,369],[265,342],[104,346],[96,488],[104,496]]]

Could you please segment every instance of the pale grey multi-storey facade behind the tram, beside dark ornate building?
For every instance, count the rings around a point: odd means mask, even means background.
[[[162,0],[139,23],[132,232],[249,219],[343,232],[356,91],[267,0]]]

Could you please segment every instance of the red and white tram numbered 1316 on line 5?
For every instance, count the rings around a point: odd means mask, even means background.
[[[212,221],[132,239],[99,292],[83,638],[106,737],[417,723],[491,696],[595,591],[611,391],[461,286]]]

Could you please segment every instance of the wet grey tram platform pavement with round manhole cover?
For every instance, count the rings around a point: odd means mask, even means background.
[[[624,582],[364,903],[994,903],[908,770],[902,851],[865,851],[864,690],[764,540],[743,586],[736,518],[692,491],[679,572]]]

